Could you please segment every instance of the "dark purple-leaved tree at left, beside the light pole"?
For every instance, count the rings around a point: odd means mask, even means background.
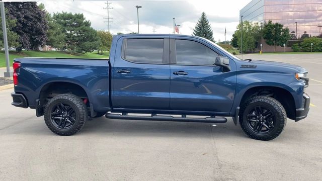
[[[19,35],[20,46],[17,48],[35,49],[46,43],[48,25],[45,12],[36,2],[12,2],[6,3],[9,17],[16,20],[16,26],[11,31]]]

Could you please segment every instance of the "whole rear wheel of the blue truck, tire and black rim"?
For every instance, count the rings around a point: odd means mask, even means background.
[[[44,109],[47,127],[55,134],[68,136],[80,131],[88,120],[87,108],[77,96],[62,94],[48,101]]]

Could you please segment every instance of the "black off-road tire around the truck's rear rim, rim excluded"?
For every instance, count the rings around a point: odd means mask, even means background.
[[[76,115],[74,124],[68,129],[60,129],[51,121],[51,112],[55,105],[59,103],[68,104]],[[88,120],[88,111],[83,100],[72,94],[61,94],[48,101],[44,109],[44,119],[47,127],[55,134],[69,136],[79,132]]]

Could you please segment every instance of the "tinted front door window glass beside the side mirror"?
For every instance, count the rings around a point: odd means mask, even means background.
[[[213,65],[218,56],[216,52],[207,46],[191,41],[176,40],[178,65]]]

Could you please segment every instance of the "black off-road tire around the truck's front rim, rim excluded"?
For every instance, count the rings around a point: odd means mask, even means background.
[[[247,115],[255,106],[263,106],[270,109],[275,115],[274,128],[268,133],[258,133],[254,131],[247,123]],[[251,138],[257,140],[269,141],[278,137],[286,125],[286,112],[284,107],[276,99],[267,96],[256,96],[247,100],[240,108],[239,124],[243,131]]]

